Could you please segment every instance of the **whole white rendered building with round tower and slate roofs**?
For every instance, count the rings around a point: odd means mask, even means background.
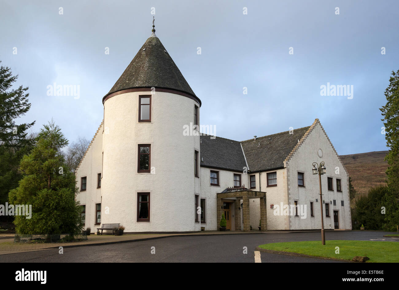
[[[201,101],[154,29],[103,105],[75,171],[92,232],[105,223],[128,233],[217,230],[222,213],[231,230],[260,220],[262,230],[320,229],[320,202],[325,229],[352,228],[348,173],[319,120],[242,142],[185,134]],[[322,161],[320,200],[312,162]]]

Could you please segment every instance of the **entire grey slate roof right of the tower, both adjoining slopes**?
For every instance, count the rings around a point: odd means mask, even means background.
[[[273,170],[284,167],[284,160],[294,149],[298,140],[304,136],[310,126],[259,137],[242,142],[208,135],[200,136],[200,165],[204,167],[243,171],[249,167],[251,172]],[[242,146],[242,149],[241,149]],[[243,155],[245,152],[245,158]],[[203,161],[202,161],[203,158]]]

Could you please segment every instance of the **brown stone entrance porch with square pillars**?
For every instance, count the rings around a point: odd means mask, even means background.
[[[266,213],[266,192],[254,191],[245,188],[244,185],[241,187],[228,187],[221,193],[217,193],[217,227],[220,225],[221,215],[223,213],[223,198],[233,198],[234,201],[234,224],[235,230],[241,231],[241,202],[243,200],[243,223],[244,231],[250,231],[251,226],[249,218],[249,199],[259,198],[261,207],[261,231],[266,231],[267,229],[267,213]]]

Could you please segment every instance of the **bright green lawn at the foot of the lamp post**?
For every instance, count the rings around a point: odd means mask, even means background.
[[[335,247],[340,247],[336,254]],[[399,242],[385,241],[321,241],[271,243],[260,245],[261,249],[292,252],[317,257],[352,260],[354,256],[367,256],[367,262],[399,262]]]

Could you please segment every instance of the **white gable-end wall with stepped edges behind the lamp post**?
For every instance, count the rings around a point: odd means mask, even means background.
[[[323,151],[323,157],[317,155],[318,149]],[[323,199],[330,203],[336,200],[336,206],[329,205],[330,217],[326,217],[325,205],[323,204],[324,229],[334,229],[333,211],[339,211],[340,229],[352,229],[350,199],[349,199],[349,176],[342,166],[334,148],[330,144],[326,134],[324,133],[320,123],[316,123],[314,129],[308,137],[300,145],[298,150],[293,154],[292,158],[286,162],[288,172],[288,198],[290,203],[298,200],[298,204],[307,205],[306,219],[300,217],[290,217],[290,229],[320,229],[320,195],[319,195],[319,179],[318,175],[312,174],[312,162],[320,164],[325,162],[326,174],[322,175],[322,194]],[[337,169],[338,168],[338,169]],[[339,173],[338,173],[339,170]],[[304,172],[305,187],[298,187],[297,174]],[[328,190],[327,178],[333,178],[333,191]],[[336,179],[341,179],[342,192],[336,190]],[[318,202],[316,203],[316,199]],[[341,200],[344,206],[341,206]],[[314,205],[314,217],[310,216],[310,201]]]

